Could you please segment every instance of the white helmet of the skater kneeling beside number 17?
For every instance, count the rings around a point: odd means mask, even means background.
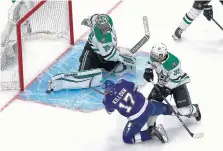
[[[150,55],[155,59],[157,62],[162,62],[166,60],[168,51],[165,44],[160,43],[156,44],[152,47],[152,50],[150,52]]]

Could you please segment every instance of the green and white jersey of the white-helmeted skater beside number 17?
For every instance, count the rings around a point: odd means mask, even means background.
[[[160,86],[174,89],[182,84],[190,82],[187,73],[181,70],[180,60],[171,53],[168,53],[168,58],[162,63],[155,61],[150,55],[147,67],[155,69]]]

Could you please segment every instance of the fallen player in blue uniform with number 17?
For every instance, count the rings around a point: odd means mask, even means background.
[[[172,109],[160,102],[147,100],[142,93],[137,91],[133,82],[120,80],[114,83],[106,80],[103,84],[105,97],[103,104],[110,114],[117,110],[122,116],[128,119],[123,131],[123,141],[127,144],[139,143],[158,138],[162,143],[168,141],[163,126],[156,126],[153,116],[160,114],[170,115]],[[142,127],[147,124],[148,129],[142,131]]]

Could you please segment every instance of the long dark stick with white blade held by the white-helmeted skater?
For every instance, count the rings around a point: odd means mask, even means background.
[[[180,123],[183,125],[183,127],[187,130],[187,132],[190,134],[191,137],[198,139],[198,138],[202,138],[204,137],[204,133],[192,133],[189,128],[186,126],[186,124],[184,123],[184,121],[180,118],[180,116],[177,114],[177,112],[174,110],[174,108],[172,107],[172,105],[167,101],[167,99],[161,94],[159,88],[155,85],[155,83],[153,82],[152,79],[150,79],[150,82],[153,84],[154,88],[156,89],[156,91],[159,93],[160,96],[162,96],[163,100],[166,102],[166,104],[168,104],[172,110],[173,113],[176,115],[176,117],[178,118],[178,120],[180,121]]]

